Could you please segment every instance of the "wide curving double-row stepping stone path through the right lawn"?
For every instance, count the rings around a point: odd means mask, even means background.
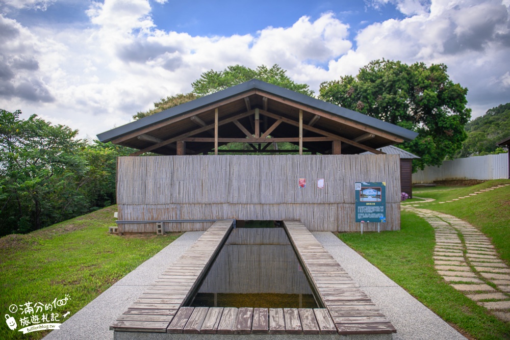
[[[436,231],[434,264],[456,290],[510,321],[510,268],[489,239],[468,222],[454,216],[402,206],[425,219]]]

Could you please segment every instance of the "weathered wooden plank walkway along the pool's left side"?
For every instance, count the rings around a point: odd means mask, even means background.
[[[110,326],[110,330],[165,333],[172,323],[173,328],[170,330],[179,329],[181,333],[199,331],[202,327],[202,317],[206,317],[208,308],[197,310],[192,315],[193,308],[181,307],[200,284],[232,227],[233,221],[214,223],[138,297],[129,309],[117,318],[117,321]],[[172,320],[179,321],[174,320],[178,310],[180,323],[174,325]],[[193,317],[193,323],[185,329],[191,317]]]

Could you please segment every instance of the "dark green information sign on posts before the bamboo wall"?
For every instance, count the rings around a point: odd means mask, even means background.
[[[356,222],[386,222],[386,182],[355,182]]]

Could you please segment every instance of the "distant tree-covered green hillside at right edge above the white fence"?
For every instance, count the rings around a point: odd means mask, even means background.
[[[468,138],[458,152],[459,157],[505,152],[496,143],[510,136],[510,103],[492,108],[466,124]]]

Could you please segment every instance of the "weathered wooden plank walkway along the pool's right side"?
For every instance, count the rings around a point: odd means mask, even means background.
[[[322,323],[331,330],[327,325],[331,318],[338,334],[396,333],[390,321],[301,222],[284,221],[284,227],[303,270],[329,311],[330,317],[323,314],[324,310],[320,316],[316,312],[319,326]]]

